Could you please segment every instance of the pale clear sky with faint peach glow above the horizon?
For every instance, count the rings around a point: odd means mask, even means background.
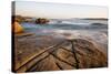
[[[108,8],[102,6],[16,1],[16,14],[50,19],[108,18]]]

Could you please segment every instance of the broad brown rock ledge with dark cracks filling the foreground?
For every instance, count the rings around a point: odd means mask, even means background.
[[[64,42],[60,43],[61,41]],[[58,40],[49,36],[16,36],[16,67],[20,67],[20,63],[27,61],[30,56],[34,54],[39,54],[39,52],[56,43],[60,43],[60,46],[57,49],[50,49],[42,55],[38,56],[37,60],[31,62],[30,66],[26,64],[24,66],[22,66],[22,68],[17,70],[16,72],[77,70],[77,62],[73,56],[71,43],[67,40]],[[101,51],[101,47],[97,47],[94,43],[83,39],[74,39],[73,46],[75,50],[77,59],[79,61],[79,68],[108,66],[107,54]],[[21,54],[19,54],[19,52],[21,52]]]

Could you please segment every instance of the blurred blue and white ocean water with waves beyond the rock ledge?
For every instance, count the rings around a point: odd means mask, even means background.
[[[107,49],[108,45],[108,21],[107,20],[51,20],[48,24],[36,24],[23,22],[26,32],[37,35],[52,35],[63,39],[85,39],[97,42]]]

